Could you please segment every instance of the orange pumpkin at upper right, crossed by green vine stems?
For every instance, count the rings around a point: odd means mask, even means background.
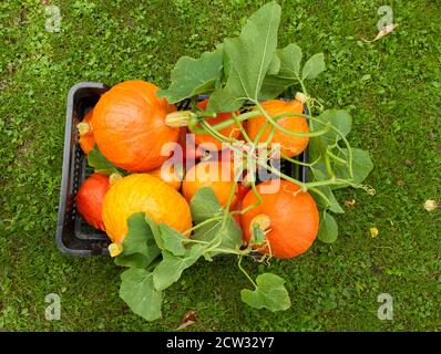
[[[281,100],[268,100],[261,103],[261,106],[271,117],[285,113],[302,113],[304,111],[302,103],[297,100],[291,102],[285,102]],[[255,139],[257,133],[260,131],[266,122],[267,119],[263,115],[248,119],[247,133],[252,140]],[[309,133],[308,123],[304,117],[288,116],[277,119],[277,123],[278,125],[291,132]],[[269,137],[270,132],[271,128],[270,126],[268,126],[265,129],[264,134],[260,136],[259,143],[266,142]],[[301,154],[301,152],[305,150],[305,148],[307,147],[308,142],[308,137],[293,136],[277,129],[271,139],[271,143],[280,143],[280,150],[288,157]]]

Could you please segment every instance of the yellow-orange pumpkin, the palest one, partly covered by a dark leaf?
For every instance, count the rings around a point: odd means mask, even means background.
[[[189,206],[183,196],[160,178],[133,174],[116,181],[104,199],[103,221],[112,242],[123,241],[127,218],[141,211],[180,232],[192,227]]]

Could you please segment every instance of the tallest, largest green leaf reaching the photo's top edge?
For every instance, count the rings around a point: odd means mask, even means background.
[[[280,6],[269,2],[248,19],[238,38],[225,40],[229,76],[224,88],[214,91],[207,111],[232,112],[246,98],[258,98],[277,49],[280,12]]]

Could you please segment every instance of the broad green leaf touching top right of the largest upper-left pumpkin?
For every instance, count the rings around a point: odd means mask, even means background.
[[[172,71],[172,84],[157,95],[176,103],[214,90],[223,66],[223,49],[205,52],[198,59],[182,56]]]

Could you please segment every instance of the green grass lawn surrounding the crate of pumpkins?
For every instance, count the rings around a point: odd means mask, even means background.
[[[69,258],[55,247],[65,97],[81,81],[131,79],[166,87],[181,55],[197,56],[264,1],[4,0],[0,2],[0,331],[173,331],[187,310],[193,331],[440,331],[441,3],[391,0],[398,29],[377,34],[384,1],[279,1],[279,46],[324,52],[310,85],[327,107],[349,110],[352,146],[369,149],[377,194],[341,190],[340,235],[304,256],[273,261],[293,306],[254,310],[235,259],[201,261],[166,291],[163,317],[148,323],[119,298],[121,269],[109,258]],[[44,4],[60,7],[59,33]],[[370,236],[377,227],[379,235]],[[263,266],[246,262],[252,274]],[[44,298],[61,295],[61,321]],[[380,321],[380,293],[393,320]]]

